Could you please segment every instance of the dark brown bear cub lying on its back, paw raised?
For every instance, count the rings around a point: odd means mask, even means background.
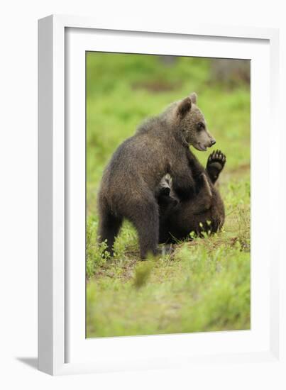
[[[226,156],[220,150],[209,155],[206,169],[194,157],[190,169],[200,174],[195,179],[197,191],[191,199],[180,200],[172,188],[172,177],[163,177],[157,194],[160,243],[184,240],[191,232],[201,236],[202,232],[215,233],[221,229],[225,218],[224,203],[214,184],[225,162]]]

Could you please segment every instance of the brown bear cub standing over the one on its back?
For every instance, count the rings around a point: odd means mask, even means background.
[[[123,218],[138,231],[141,258],[155,255],[159,243],[158,188],[165,174],[181,200],[196,192],[200,165],[192,164],[189,145],[207,150],[216,142],[207,130],[202,111],[191,94],[165,112],[143,123],[133,137],[114,152],[104,170],[99,190],[99,240],[113,253]]]

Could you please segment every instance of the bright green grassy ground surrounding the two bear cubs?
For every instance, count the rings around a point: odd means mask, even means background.
[[[147,116],[190,92],[227,157],[219,189],[221,233],[178,243],[171,256],[138,260],[124,223],[116,256],[97,245],[97,190],[116,147]],[[203,163],[209,152],[196,152]],[[250,89],[218,82],[207,59],[87,55],[87,337],[250,328]]]

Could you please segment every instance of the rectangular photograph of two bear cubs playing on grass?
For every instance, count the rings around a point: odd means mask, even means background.
[[[86,337],[251,329],[251,60],[85,61]]]

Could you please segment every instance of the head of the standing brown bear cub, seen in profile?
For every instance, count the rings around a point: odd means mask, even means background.
[[[197,150],[207,150],[216,140],[207,130],[207,123],[202,111],[197,106],[197,94],[194,92],[177,104],[177,126],[188,145]]]

